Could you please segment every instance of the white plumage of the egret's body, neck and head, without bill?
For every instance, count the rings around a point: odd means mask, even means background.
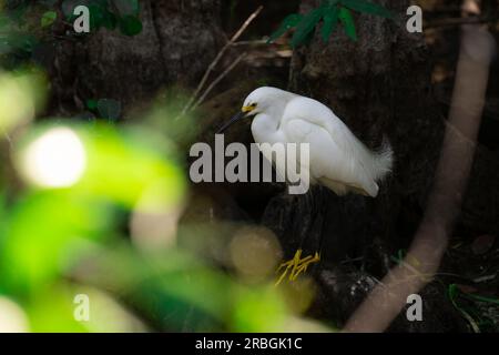
[[[377,182],[390,170],[393,151],[366,148],[346,124],[323,103],[276,88],[259,88],[244,102],[243,112],[256,114],[252,132],[257,143],[309,143],[310,183],[320,183],[338,195],[348,192],[375,197]],[[267,152],[263,151],[267,159]],[[276,166],[283,173],[283,166]]]

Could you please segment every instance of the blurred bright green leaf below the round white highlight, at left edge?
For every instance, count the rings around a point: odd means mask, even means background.
[[[68,191],[34,192],[19,199],[1,250],[2,283],[20,291],[43,285],[61,272],[62,253],[71,242],[105,237],[112,221],[104,205]]]

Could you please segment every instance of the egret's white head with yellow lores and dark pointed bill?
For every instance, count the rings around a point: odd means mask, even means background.
[[[246,100],[244,100],[244,104],[241,111],[227,123],[225,123],[220,129],[218,133],[222,133],[230,125],[244,118],[249,118],[258,113],[263,113],[266,110],[271,109],[273,105],[277,105],[283,101],[287,101],[289,99],[289,95],[293,94],[276,88],[264,87],[256,89],[246,98]]]

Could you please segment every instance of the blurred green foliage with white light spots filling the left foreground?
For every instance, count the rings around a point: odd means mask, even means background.
[[[83,2],[94,29],[140,32],[139,1]],[[0,2],[0,331],[309,329],[272,277],[248,282],[203,257],[204,244],[176,243],[189,196],[179,152],[200,128],[179,119],[181,95],[165,92],[140,120],[119,122],[121,103],[105,98],[85,102],[84,120],[38,120],[50,82],[32,59],[75,4],[58,3]],[[181,230],[203,241],[224,229]],[[89,321],[74,316],[79,294]]]

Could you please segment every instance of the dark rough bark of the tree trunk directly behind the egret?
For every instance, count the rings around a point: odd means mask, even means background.
[[[320,192],[315,193],[315,200],[317,194],[325,195],[318,206],[322,212],[302,213],[302,224],[317,224],[317,216],[327,223],[304,227],[297,239],[326,244],[346,239],[348,242],[342,243],[349,245],[344,250],[326,245],[337,257],[375,237],[394,239],[398,245],[404,236],[413,235],[418,223],[414,216],[424,209],[441,143],[444,121],[429,97],[430,67],[422,37],[409,34],[405,28],[403,14],[409,1],[380,2],[401,14],[395,23],[360,16],[356,23],[358,42],[352,42],[339,29],[328,43],[316,36],[310,47],[298,51],[293,60],[293,91],[329,105],[371,149],[387,136],[395,151],[394,173],[381,183],[379,197],[338,199],[317,189]],[[315,4],[317,1],[304,1],[303,10]],[[274,221],[294,221],[289,215],[294,211],[276,210],[272,204],[267,210],[269,225]],[[413,225],[403,223],[405,227],[397,229],[404,220],[411,220]],[[328,248],[323,253],[334,253]]]

